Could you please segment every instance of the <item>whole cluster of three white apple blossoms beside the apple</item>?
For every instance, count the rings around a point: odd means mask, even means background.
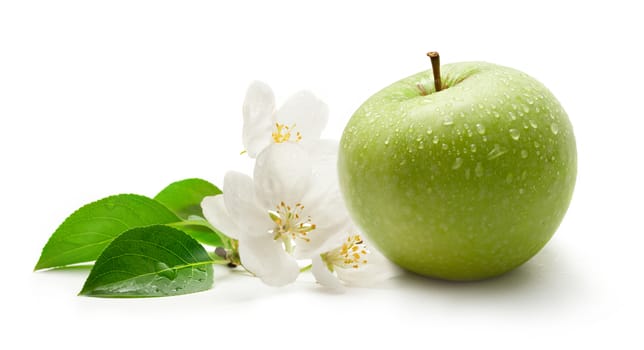
[[[242,141],[255,159],[253,176],[228,172],[223,194],[201,203],[208,222],[234,240],[218,254],[268,285],[289,284],[309,268],[333,288],[371,284],[396,271],[351,222],[338,184],[338,144],[320,139],[328,114],[308,91],[276,110],[271,88],[252,83]]]

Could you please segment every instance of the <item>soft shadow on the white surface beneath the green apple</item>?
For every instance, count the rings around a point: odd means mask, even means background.
[[[472,307],[495,311],[559,311],[583,300],[585,283],[560,247],[549,245],[522,266],[501,276],[452,282],[403,273],[382,287],[402,291],[404,302],[436,307]]]

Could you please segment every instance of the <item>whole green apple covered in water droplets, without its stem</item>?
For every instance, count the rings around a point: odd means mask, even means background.
[[[525,73],[485,62],[441,70],[439,92],[425,71],[358,108],[340,142],[340,185],[354,221],[394,263],[485,279],[556,231],[575,185],[575,137],[557,99]]]

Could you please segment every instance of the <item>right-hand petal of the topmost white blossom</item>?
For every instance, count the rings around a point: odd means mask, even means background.
[[[310,91],[300,91],[291,96],[275,113],[275,121],[295,125],[302,134],[302,141],[317,140],[329,119],[329,107]]]

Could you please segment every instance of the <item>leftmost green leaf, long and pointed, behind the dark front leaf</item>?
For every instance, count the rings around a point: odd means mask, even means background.
[[[94,261],[119,234],[134,227],[180,221],[168,208],[139,195],[120,194],[70,215],[49,238],[36,270]]]

